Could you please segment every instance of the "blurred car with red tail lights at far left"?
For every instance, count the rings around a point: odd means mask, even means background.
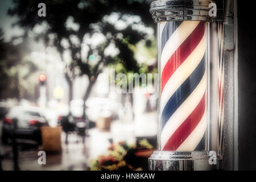
[[[48,123],[39,107],[12,107],[3,119],[2,143],[7,144],[13,138],[14,122],[17,123],[15,139],[22,139],[22,142],[42,143],[40,127],[46,126]]]

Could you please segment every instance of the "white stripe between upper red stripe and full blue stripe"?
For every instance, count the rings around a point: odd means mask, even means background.
[[[162,96],[160,98],[160,113],[162,113],[164,106],[166,106],[166,103],[168,100],[170,100],[171,96],[176,92],[180,85],[183,84],[189,75],[191,75],[191,73],[196,69],[197,65],[199,65],[200,61],[203,59],[206,48],[205,36],[206,32],[195,50],[187,57],[183,64],[177,68],[164,86]]]

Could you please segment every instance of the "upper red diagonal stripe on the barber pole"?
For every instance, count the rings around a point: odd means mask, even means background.
[[[174,74],[177,68],[187,59],[187,57],[192,53],[196,46],[200,43],[204,36],[205,23],[200,22],[195,30],[188,36],[188,38],[180,45],[179,48],[174,52],[174,54],[167,61],[162,72],[162,91],[166,85],[169,78]],[[174,43],[175,44],[175,43]]]

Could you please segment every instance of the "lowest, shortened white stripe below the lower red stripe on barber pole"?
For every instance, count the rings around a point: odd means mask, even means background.
[[[187,139],[177,148],[176,151],[194,151],[198,146],[201,139],[204,137],[205,131],[207,129],[207,118],[204,114],[203,118],[196,126],[195,130],[188,136]]]

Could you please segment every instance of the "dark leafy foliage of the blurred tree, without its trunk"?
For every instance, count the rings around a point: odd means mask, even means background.
[[[108,65],[112,62],[112,58],[104,56],[104,48],[109,46],[110,42],[114,42],[120,50],[118,58],[124,67],[128,71],[138,71],[139,66],[134,59],[134,52],[127,46],[127,44],[136,44],[140,40],[144,39],[144,33],[133,30],[129,25],[125,30],[117,30],[113,24],[102,21],[105,15],[109,15],[112,12],[117,12],[122,19],[123,14],[138,15],[141,17],[142,22],[145,24],[152,24],[151,16],[148,13],[150,1],[80,1],[80,0],[67,0],[67,1],[45,1],[47,7],[47,16],[39,17],[37,14],[37,5],[41,1],[39,0],[26,0],[26,1],[14,1],[14,8],[9,10],[10,15],[18,15],[19,20],[16,24],[20,27],[31,29],[36,25],[46,22],[48,29],[43,34],[38,35],[38,38],[43,38],[45,42],[50,45],[49,34],[56,35],[52,46],[56,46],[59,52],[62,54],[65,48],[61,46],[61,40],[67,39],[69,41],[69,48],[72,51],[72,59],[76,64],[72,64],[69,69],[73,69],[78,66],[82,75],[97,76],[100,70],[98,67],[90,68],[88,61],[82,61],[81,59],[81,43],[83,41],[85,33],[89,32],[93,34],[95,31],[100,31],[102,34],[112,34],[112,39],[109,39],[103,48],[96,47],[90,49],[100,49],[99,55],[102,60],[101,64]],[[73,18],[74,23],[78,23],[79,30],[73,30],[72,28],[65,27],[67,19]],[[92,28],[92,24],[96,24],[97,30]],[[123,34],[123,39],[117,39],[118,33]],[[76,35],[80,40],[80,45],[77,47],[72,44],[70,40],[71,35]],[[101,45],[102,46],[102,45]],[[89,52],[92,52],[90,50]],[[90,55],[90,54],[89,54]],[[110,59],[110,60],[109,60]],[[88,59],[87,59],[88,60]],[[72,76],[68,76],[72,80]]]

